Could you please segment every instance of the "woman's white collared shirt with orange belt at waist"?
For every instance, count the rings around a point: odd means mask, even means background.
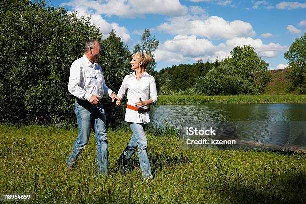
[[[139,80],[136,79],[135,72],[126,75],[122,81],[122,85],[118,91],[117,96],[123,98],[127,90],[127,104],[135,106],[135,103],[141,100],[145,101],[152,99],[154,105],[157,102],[157,89],[156,82],[153,76],[144,72]],[[144,106],[143,108],[148,108]],[[125,114],[126,122],[144,123],[148,124],[150,122],[150,113],[138,113],[137,111],[126,109]]]

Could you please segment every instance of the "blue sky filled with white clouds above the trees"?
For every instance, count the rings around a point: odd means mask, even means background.
[[[215,61],[251,45],[269,69],[287,66],[284,53],[306,32],[306,0],[51,0],[91,16],[106,38],[112,29],[132,52],[144,29],[159,40],[156,70]]]

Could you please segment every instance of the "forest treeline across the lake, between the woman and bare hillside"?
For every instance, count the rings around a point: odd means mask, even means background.
[[[199,60],[155,73],[159,94],[240,95],[258,94],[271,80],[268,63],[248,45],[235,47],[221,62]]]

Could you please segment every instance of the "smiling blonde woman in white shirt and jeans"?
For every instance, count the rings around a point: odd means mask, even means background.
[[[145,181],[153,179],[151,165],[147,156],[147,139],[144,133],[145,125],[150,122],[149,105],[156,104],[157,90],[153,76],[145,72],[151,57],[147,54],[133,54],[131,68],[134,71],[124,77],[117,96],[122,100],[127,90],[127,108],[125,121],[133,132],[131,140],[118,159],[118,164],[126,167],[129,159],[138,146],[138,157],[142,176]],[[117,106],[121,100],[116,101]]]

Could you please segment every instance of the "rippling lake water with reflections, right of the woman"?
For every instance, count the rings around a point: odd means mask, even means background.
[[[151,117],[153,125],[166,120],[177,128],[228,122],[240,139],[278,145],[303,141],[306,133],[306,104],[158,105]]]

